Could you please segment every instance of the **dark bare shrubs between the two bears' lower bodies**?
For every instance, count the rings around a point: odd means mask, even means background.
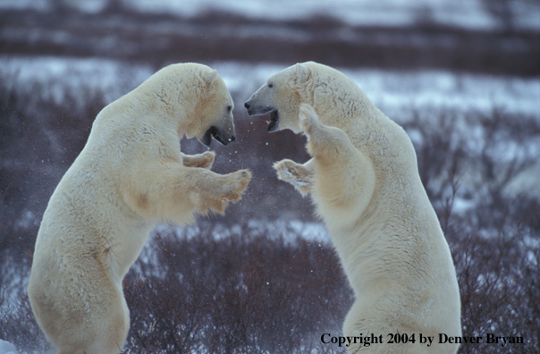
[[[213,232],[156,235],[157,262],[126,278],[125,352],[303,353],[341,332],[351,291],[328,244]]]

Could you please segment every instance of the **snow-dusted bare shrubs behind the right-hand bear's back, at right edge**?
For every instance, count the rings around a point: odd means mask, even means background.
[[[417,115],[405,128],[415,136],[419,133],[414,139],[419,172],[451,246],[463,336],[483,336],[486,341],[486,333],[493,333],[524,339],[523,345],[506,347],[461,345],[460,353],[536,353],[538,190],[527,193],[511,184],[538,164],[540,123],[499,109],[468,116],[447,113],[432,124],[426,122]],[[464,127],[477,135],[464,134]]]

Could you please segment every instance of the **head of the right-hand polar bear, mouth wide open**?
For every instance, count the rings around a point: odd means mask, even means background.
[[[300,131],[300,103],[312,71],[297,63],[271,76],[244,104],[249,115],[270,113],[268,131]]]

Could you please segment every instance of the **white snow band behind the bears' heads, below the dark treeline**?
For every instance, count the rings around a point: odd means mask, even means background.
[[[266,63],[207,63],[217,69],[237,105],[242,104],[266,79],[286,65]],[[452,109],[490,113],[502,109],[540,120],[540,78],[519,78],[446,71],[399,72],[374,69],[341,69],[354,80],[385,114],[402,113],[404,108]],[[0,74],[17,90],[38,92],[60,103],[67,93],[88,95],[102,92],[112,102],[152,75],[149,65],[106,59],[78,59],[54,56],[0,56]],[[36,90],[36,85],[38,89]],[[84,88],[84,90],[80,90]]]

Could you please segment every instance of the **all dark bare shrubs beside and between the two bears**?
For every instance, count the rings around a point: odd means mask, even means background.
[[[32,244],[46,200],[105,102],[97,95],[80,108],[74,97],[66,97],[59,105],[21,95],[5,84],[14,79],[5,79],[0,80],[0,338],[21,352],[44,352],[48,346],[24,289]],[[537,186],[527,190],[517,183],[539,164],[540,122],[500,109],[413,114],[403,126],[451,246],[463,335],[494,333],[525,341],[506,347],[464,344],[460,353],[540,352],[540,201]],[[323,333],[340,335],[352,303],[333,248],[302,239],[292,227],[273,230],[278,217],[313,220],[308,199],[277,181],[270,167],[284,157],[305,161],[304,141],[289,133],[267,135],[263,121],[252,125],[242,118],[239,114],[239,131],[252,131],[239,135],[234,147],[216,147],[215,169],[249,167],[263,188],[248,190],[226,219],[158,229],[124,281],[131,309],[124,353],[343,351],[320,341]],[[184,142],[187,153],[203,148]]]

